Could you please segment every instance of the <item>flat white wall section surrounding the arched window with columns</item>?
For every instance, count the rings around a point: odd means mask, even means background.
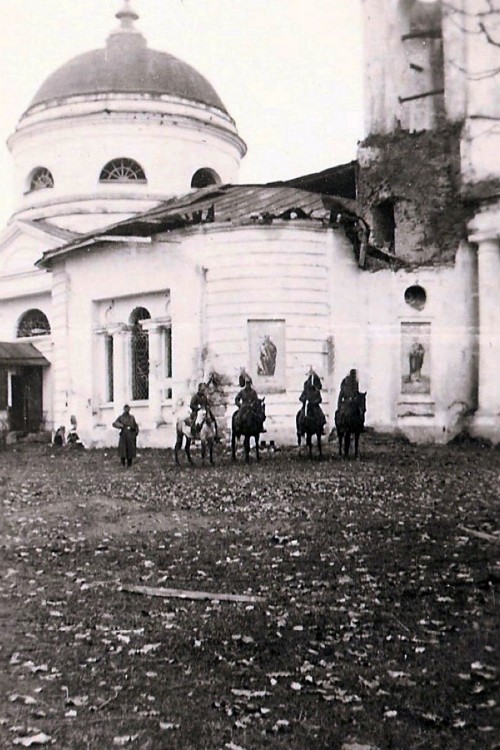
[[[187,398],[192,387],[196,356],[201,350],[201,284],[202,274],[189,249],[175,242],[104,246],[94,251],[93,262],[82,253],[69,257],[64,264],[64,292],[67,298],[67,320],[61,316],[61,343],[66,348],[67,367],[61,363],[56,412],[58,421],[66,423],[75,414],[79,431],[90,445],[114,445],[116,431],[111,428],[115,412],[123,406],[124,394],[116,394],[109,407],[95,402],[96,362],[95,330],[102,326],[98,311],[103,302],[114,300],[116,315],[123,311],[123,322],[135,307],[146,307],[152,317],[164,317],[167,311],[174,321],[173,389],[176,398]],[[163,300],[160,302],[159,300]],[[115,315],[115,317],[116,317]],[[67,396],[65,394],[67,393]],[[127,400],[130,401],[130,392]],[[141,426],[140,444],[168,447],[173,444],[173,403],[164,407],[165,429],[156,429],[148,404],[131,402]],[[96,431],[94,425],[101,427]]]

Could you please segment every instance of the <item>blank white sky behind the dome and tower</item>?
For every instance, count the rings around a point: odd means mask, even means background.
[[[120,0],[0,0],[0,223],[13,209],[5,141],[35,92],[103,47]],[[150,47],[214,86],[248,145],[241,182],[355,158],[363,136],[360,0],[133,0]]]

